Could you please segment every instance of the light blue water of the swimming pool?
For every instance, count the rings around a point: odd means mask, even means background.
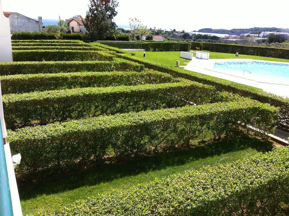
[[[289,64],[275,62],[215,62],[214,69],[259,82],[289,85]]]

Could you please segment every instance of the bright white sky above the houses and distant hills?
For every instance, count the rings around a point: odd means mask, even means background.
[[[3,11],[31,18],[68,19],[85,16],[89,0],[0,0]],[[268,2],[268,3],[267,3]],[[130,17],[148,27],[193,31],[201,28],[232,29],[251,27],[289,28],[289,1],[194,1],[119,0],[118,25],[128,25]]]

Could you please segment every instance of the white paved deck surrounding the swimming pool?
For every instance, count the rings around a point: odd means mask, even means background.
[[[253,60],[253,59],[192,59],[185,67],[185,70],[194,71],[197,73],[202,73],[205,75],[210,75],[218,77],[224,80],[229,80],[237,82],[240,84],[253,86],[256,88],[261,88],[266,92],[270,92],[279,96],[289,97],[289,83],[277,83],[274,80],[266,80],[264,77],[260,79],[252,78],[248,74],[236,73],[236,71],[223,71],[214,69],[215,62],[241,62],[241,61],[258,61],[258,62],[271,62],[271,63],[281,63],[288,64],[287,62],[272,62],[263,60]],[[289,73],[289,71],[288,71]]]

